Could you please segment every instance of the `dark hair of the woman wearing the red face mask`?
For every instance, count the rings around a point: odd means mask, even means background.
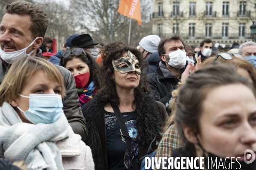
[[[77,47],[72,47],[69,50],[75,50],[75,49],[77,49]],[[69,51],[69,50],[67,50],[67,51]],[[81,59],[81,61],[85,62],[90,69],[90,79],[89,80],[96,82],[96,70],[99,68],[99,65],[97,64],[95,59],[90,54],[86,53],[86,55],[87,55],[87,57],[85,57],[84,53],[79,54],[79,55],[75,55],[74,53],[71,53],[69,57],[66,57],[66,58],[61,57],[60,65],[63,66],[64,68],[66,68],[68,61],[73,60],[75,58]]]

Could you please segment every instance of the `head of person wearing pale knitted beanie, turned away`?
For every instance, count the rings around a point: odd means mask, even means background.
[[[143,39],[140,40],[139,49],[143,54],[143,58],[146,58],[157,51],[157,46],[160,40],[161,39],[158,35],[148,35],[147,37],[143,37]]]

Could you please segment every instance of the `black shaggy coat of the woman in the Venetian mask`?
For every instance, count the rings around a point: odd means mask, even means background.
[[[88,137],[86,144],[91,148],[95,170],[108,170],[107,137],[105,126],[103,102],[96,95],[82,108],[84,118],[87,120]],[[155,102],[148,94],[141,92],[135,99],[137,114],[137,129],[139,141],[139,157],[147,153],[148,147],[154,137],[161,132],[163,122],[168,114],[160,102]]]

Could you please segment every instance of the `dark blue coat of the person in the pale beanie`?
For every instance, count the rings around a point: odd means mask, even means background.
[[[158,52],[154,52],[153,54],[149,55],[145,59],[148,61],[148,69],[145,68],[143,72],[145,74],[154,73],[157,69],[157,63],[161,60]]]

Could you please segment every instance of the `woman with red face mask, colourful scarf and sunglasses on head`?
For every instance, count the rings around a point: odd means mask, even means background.
[[[62,53],[61,66],[67,68],[76,80],[76,89],[80,106],[89,102],[96,94],[97,83],[94,74],[98,64],[82,48],[70,48]]]

